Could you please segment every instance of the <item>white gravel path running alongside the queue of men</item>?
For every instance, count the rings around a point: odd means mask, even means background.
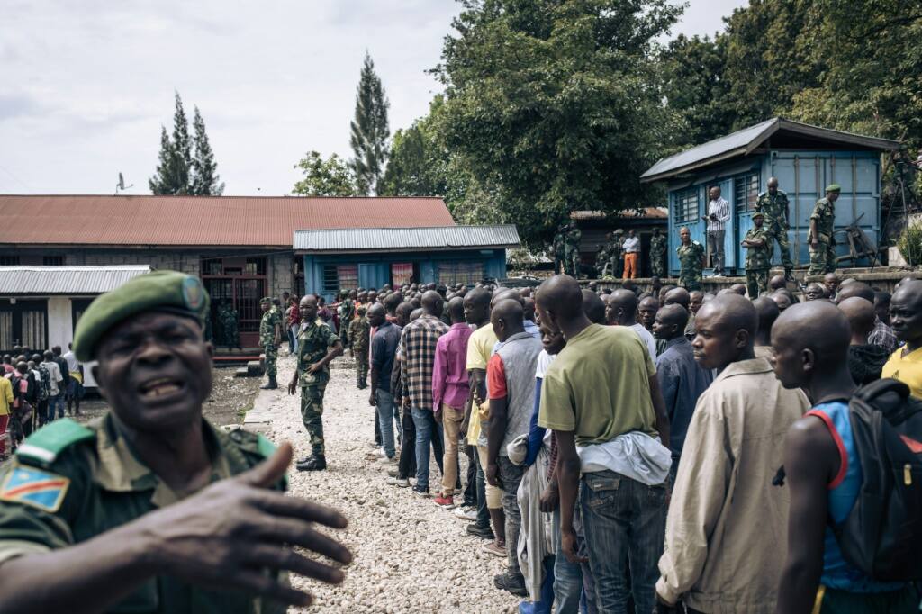
[[[368,389],[355,385],[352,360],[333,363],[324,403],[324,435],[328,469],[289,474],[294,496],[339,509],[349,527],[338,532],[352,550],[346,582],[329,586],[293,579],[315,597],[310,608],[290,612],[515,612],[518,599],[493,587],[505,559],[483,550],[486,543],[465,532],[466,521],[452,511],[420,499],[409,489],[385,483],[381,465],[365,459],[372,452],[374,415]],[[279,384],[290,380],[294,360],[280,356]],[[300,400],[282,390],[261,391],[256,402],[271,415],[271,439],[288,440],[295,457],[309,455],[311,445],[301,424]],[[462,455],[462,459],[464,456]],[[431,462],[431,487],[439,480]],[[432,488],[434,491],[434,488]],[[456,498],[456,501],[459,501]]]

